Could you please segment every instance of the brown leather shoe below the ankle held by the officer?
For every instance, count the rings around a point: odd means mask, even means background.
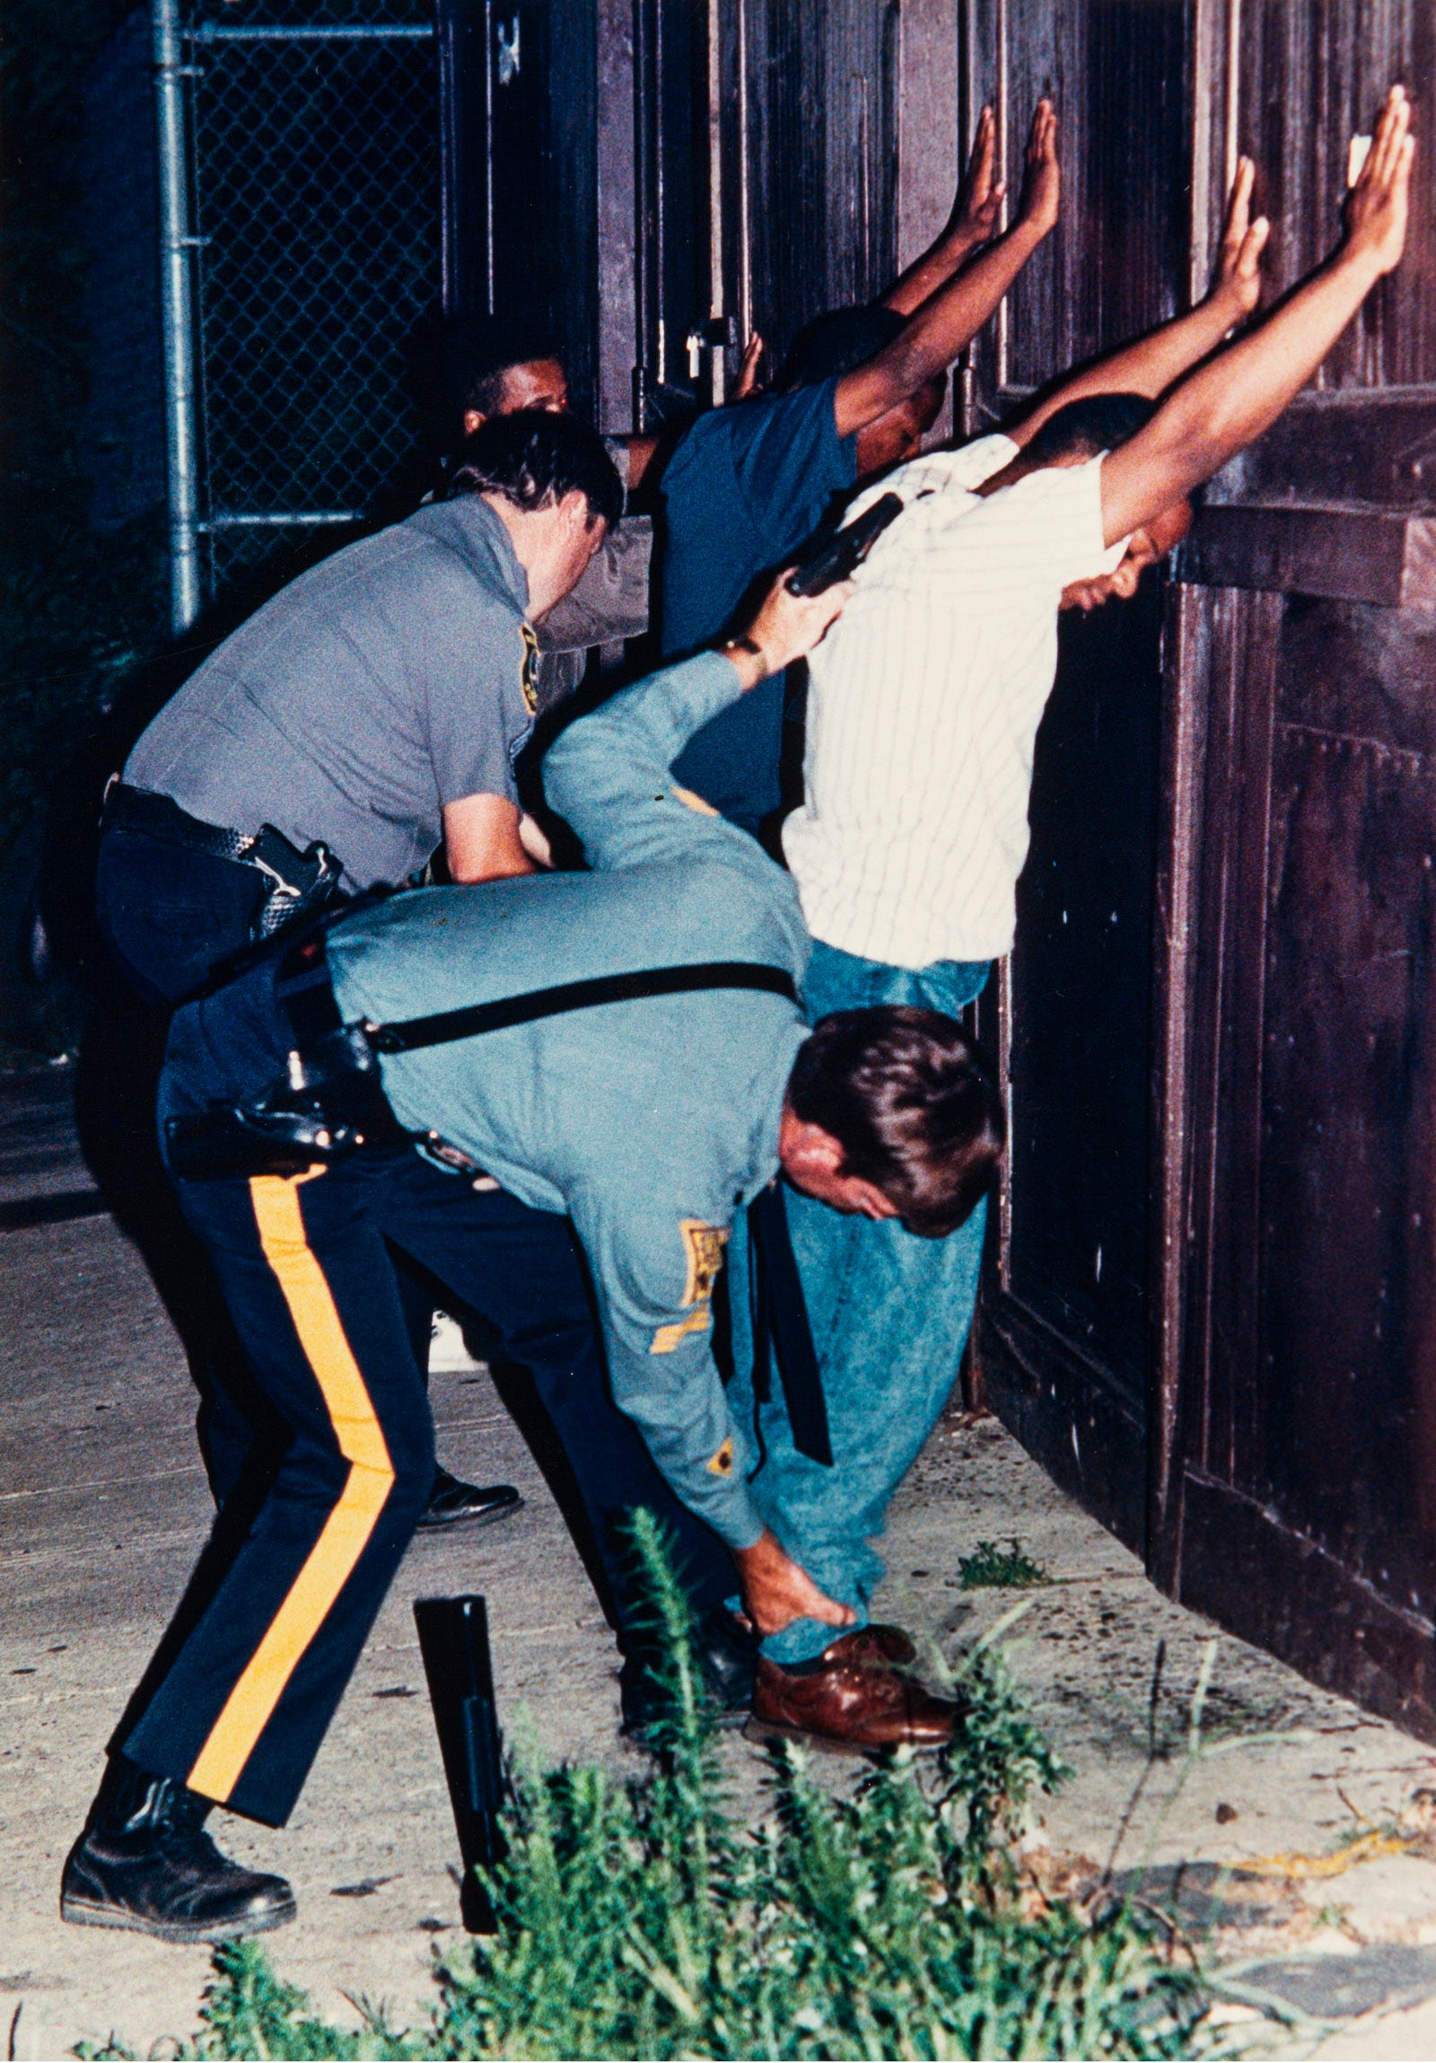
[[[875,1747],[943,1747],[959,1708],[879,1659],[871,1632],[864,1626],[844,1634],[817,1661],[792,1669],[759,1655],[749,1733],[852,1756]]]

